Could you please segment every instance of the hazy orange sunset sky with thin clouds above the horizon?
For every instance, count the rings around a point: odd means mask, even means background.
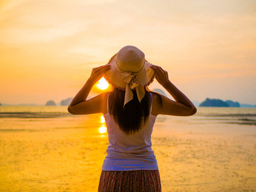
[[[74,97],[134,45],[193,101],[256,104],[255,31],[254,0],[0,0],[0,102]]]

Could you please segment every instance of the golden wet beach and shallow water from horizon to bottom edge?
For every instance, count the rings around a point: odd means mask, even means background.
[[[101,114],[3,107],[0,191],[97,191],[108,147]],[[256,191],[255,121],[256,109],[157,116],[152,148],[162,191]]]

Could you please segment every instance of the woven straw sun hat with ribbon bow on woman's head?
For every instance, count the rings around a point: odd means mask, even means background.
[[[132,100],[132,90],[136,90],[141,102],[145,96],[144,87],[154,79],[154,70],[145,60],[145,54],[137,47],[128,45],[120,49],[107,65],[111,65],[111,68],[106,71],[104,77],[115,88],[125,90],[124,106]]]

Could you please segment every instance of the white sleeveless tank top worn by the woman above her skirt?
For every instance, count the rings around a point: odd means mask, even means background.
[[[151,111],[152,104],[147,122],[138,132],[128,135],[119,128],[113,116],[109,114],[109,111],[104,114],[108,130],[109,145],[107,149],[108,154],[104,159],[102,170],[158,170],[156,156],[151,148],[151,134],[156,116],[151,115]]]

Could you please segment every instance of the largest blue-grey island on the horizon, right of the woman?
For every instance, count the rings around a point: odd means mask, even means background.
[[[239,102],[234,102],[232,100],[223,101],[221,99],[209,99],[209,98],[207,98],[199,106],[200,107],[240,108]]]

